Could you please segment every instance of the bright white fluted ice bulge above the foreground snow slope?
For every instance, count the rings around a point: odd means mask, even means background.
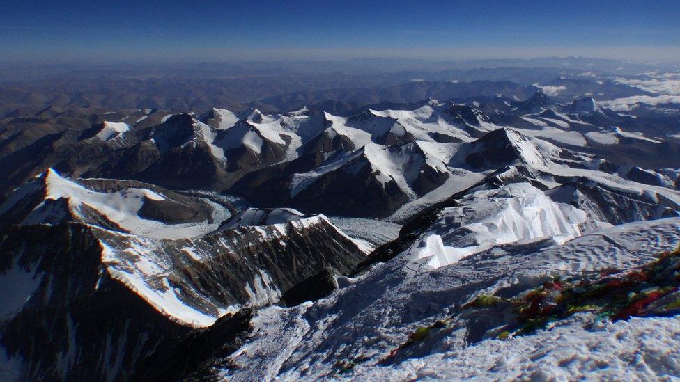
[[[581,209],[553,202],[529,183],[509,184],[476,191],[444,209],[415,253],[436,269],[498,244],[542,238],[562,244],[580,236],[586,220]]]

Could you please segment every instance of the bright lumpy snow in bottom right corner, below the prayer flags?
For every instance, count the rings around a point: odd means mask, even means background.
[[[600,321],[576,315],[550,331],[510,341],[486,340],[472,347],[406,360],[397,368],[357,369],[370,379],[479,379],[531,381],[673,379],[680,375],[680,316]]]

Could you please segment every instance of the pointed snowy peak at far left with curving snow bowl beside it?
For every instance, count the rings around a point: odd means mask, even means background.
[[[20,225],[77,221],[144,237],[178,239],[215,230],[229,212],[216,203],[141,182],[75,181],[49,168],[11,193],[0,205],[0,216]]]

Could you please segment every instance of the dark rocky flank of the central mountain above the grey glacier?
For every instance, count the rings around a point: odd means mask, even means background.
[[[427,164],[426,154],[415,143],[393,145],[387,150],[408,158],[408,171],[415,173],[408,186],[417,196],[437,188],[449,176]],[[408,191],[401,189],[395,180],[378,180],[382,174],[373,170],[371,159],[362,150],[352,156],[346,152],[331,153],[325,163],[341,165],[320,174],[304,189],[291,193],[291,177],[314,169],[320,160],[316,156],[301,157],[251,173],[236,182],[230,192],[249,198],[260,207],[287,205],[303,212],[378,218],[389,216],[410,200]],[[327,198],[328,195],[334,197]]]

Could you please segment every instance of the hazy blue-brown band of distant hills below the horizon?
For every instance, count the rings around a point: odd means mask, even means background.
[[[349,115],[369,104],[417,102],[427,97],[462,101],[500,94],[524,99],[534,93],[534,85],[546,87],[544,91],[560,102],[589,95],[598,100],[649,95],[612,79],[661,70],[663,65],[546,58],[469,63],[364,60],[2,67],[6,77],[0,79],[0,115],[17,108],[38,111],[48,106],[107,109],[103,111],[211,107],[244,111],[256,107],[265,113],[307,106]]]

